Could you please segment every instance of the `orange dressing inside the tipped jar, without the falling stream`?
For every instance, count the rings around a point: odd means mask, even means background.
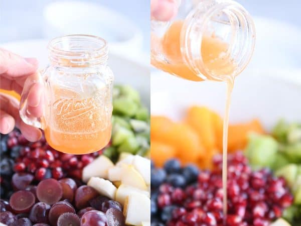
[[[181,54],[180,34],[183,27],[183,21],[174,22],[165,33],[161,41],[161,51],[166,57],[166,62],[152,59],[152,64],[166,72],[179,77],[202,81],[189,66],[184,62]],[[231,59],[224,57],[228,49],[228,44],[222,42],[219,38],[204,35],[202,38],[201,56],[204,65],[211,74],[230,75],[235,69]],[[204,68],[199,68],[206,75]]]

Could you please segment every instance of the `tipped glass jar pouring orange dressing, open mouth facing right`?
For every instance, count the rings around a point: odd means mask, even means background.
[[[194,81],[222,81],[238,75],[255,44],[249,13],[231,0],[178,2],[175,18],[152,21],[152,64]]]

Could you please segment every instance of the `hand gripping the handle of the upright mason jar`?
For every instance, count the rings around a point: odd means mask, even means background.
[[[0,48],[0,79],[1,88],[14,90],[21,95],[24,84],[29,85],[27,111],[33,117],[43,114],[43,89],[37,82],[38,61],[35,58],[23,58],[5,49]],[[19,115],[19,101],[5,93],[0,93],[0,132],[10,133],[15,125],[21,130],[24,137],[37,141],[42,133],[39,129],[25,124]]]

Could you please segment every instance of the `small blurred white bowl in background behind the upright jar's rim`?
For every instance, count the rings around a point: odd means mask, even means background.
[[[134,55],[142,48],[142,33],[123,15],[100,4],[57,1],[43,11],[43,32],[47,39],[70,34],[104,38],[111,51]]]

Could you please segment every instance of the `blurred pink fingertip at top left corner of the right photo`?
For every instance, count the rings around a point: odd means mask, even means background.
[[[157,21],[168,21],[177,15],[179,0],[150,0],[150,16]]]

